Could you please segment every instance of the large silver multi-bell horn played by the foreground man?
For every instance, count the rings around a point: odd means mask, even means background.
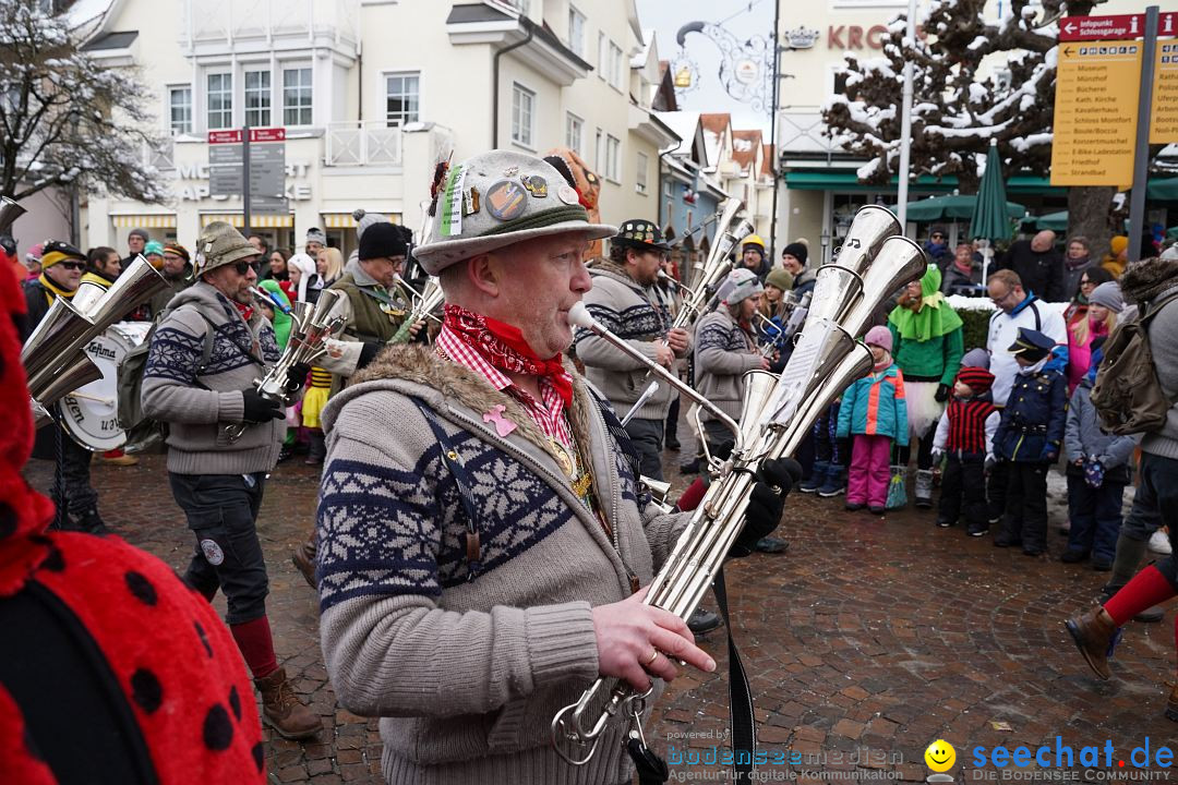
[[[819,302],[815,288],[785,371],[780,377],[756,371],[746,374],[736,445],[727,461],[712,464],[713,481],[651,581],[644,603],[684,620],[695,611],[740,535],[760,463],[790,455],[829,403],[871,371],[871,351],[854,339],[866,326],[860,313],[878,308],[894,290],[886,284],[911,279],[918,266],[916,257],[905,242],[891,244],[889,248],[895,251],[881,252],[889,231],[898,232],[899,225],[888,211],[875,207],[861,211],[847,235],[845,251],[833,264],[819,270],[822,301]],[[571,311],[569,321],[575,322]],[[602,337],[618,348],[630,348],[617,337]],[[642,357],[636,351],[630,355],[635,354]],[[654,373],[662,371],[650,360],[640,361]],[[697,397],[694,391],[691,397],[693,400]],[[641,732],[641,712],[636,707],[646,697],[626,683],[608,685],[598,678],[580,700],[552,718],[554,747],[573,765],[588,763],[615,718],[626,721],[638,718]],[[617,738],[621,737],[618,731]]]

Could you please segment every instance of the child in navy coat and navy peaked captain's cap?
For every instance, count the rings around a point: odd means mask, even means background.
[[[1045,367],[1055,341],[1020,327],[1010,352],[1019,364],[1002,420],[994,434],[994,457],[1007,461],[1006,514],[997,547],[1021,545],[1031,557],[1047,548],[1047,471],[1064,441],[1067,380]]]

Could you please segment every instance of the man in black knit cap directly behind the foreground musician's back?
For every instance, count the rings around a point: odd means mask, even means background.
[[[377,352],[397,334],[411,308],[411,299],[401,287],[401,273],[405,270],[405,258],[412,232],[404,226],[378,221],[360,234],[360,247],[356,259],[344,266],[344,274],[329,288],[342,292],[330,317],[344,319],[340,340],[327,341],[327,353],[316,361],[312,381],[318,368],[333,374],[332,390],[344,386],[344,380],[372,361]],[[421,324],[410,327],[416,337]],[[320,443],[312,451],[322,448]],[[291,560],[303,578],[315,587],[315,533],[294,548]]]

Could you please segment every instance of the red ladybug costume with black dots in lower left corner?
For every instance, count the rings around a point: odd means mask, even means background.
[[[0,783],[264,783],[253,686],[204,597],[118,538],[48,532],[21,477],[33,443],[0,275]]]

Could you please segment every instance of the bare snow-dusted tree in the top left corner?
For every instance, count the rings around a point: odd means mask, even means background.
[[[146,202],[167,197],[144,151],[158,147],[154,98],[128,68],[95,62],[65,19],[0,0],[0,193],[77,184]]]

